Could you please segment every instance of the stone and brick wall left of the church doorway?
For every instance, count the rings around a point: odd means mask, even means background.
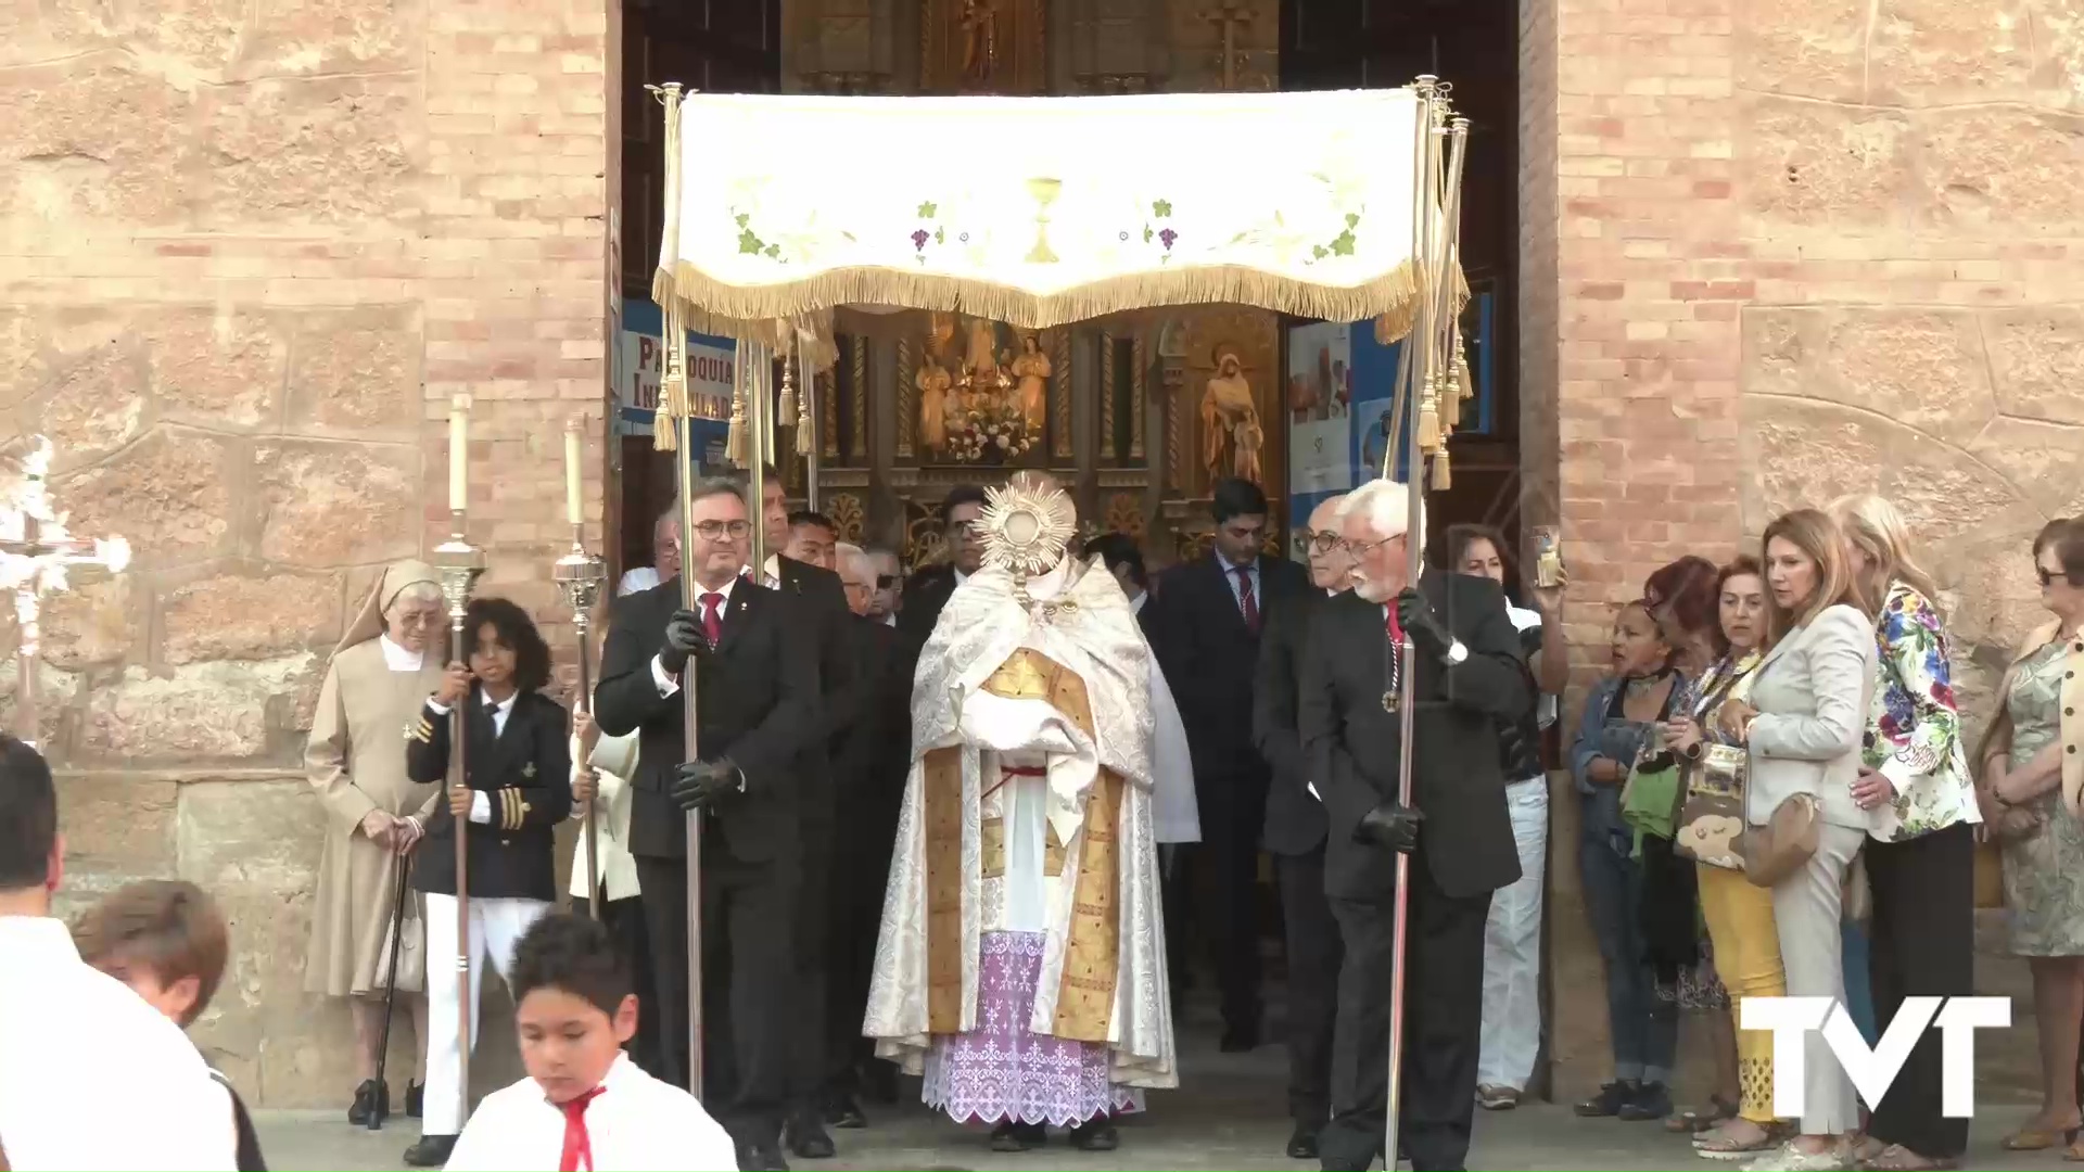
[[[352,1091],[346,1014],[302,993],[298,761],[373,569],[446,534],[450,392],[477,396],[483,588],[565,617],[567,415],[600,482],[604,56],[602,0],[0,15],[0,438],[48,434],[75,528],[138,551],[46,624],[67,907],[171,874],[225,901],[196,1032],[258,1105]]]

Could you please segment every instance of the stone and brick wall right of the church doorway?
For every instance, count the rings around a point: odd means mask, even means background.
[[[1611,605],[1663,561],[1878,490],[1946,588],[1980,726],[2042,617],[2028,540],[2084,496],[2084,4],[1555,10],[1538,131],[1559,188],[1523,198],[1559,252],[1548,386],[1584,676]],[[1553,457],[1530,444],[1530,475]],[[1567,1093],[1605,1047],[1596,997],[1571,1005]]]

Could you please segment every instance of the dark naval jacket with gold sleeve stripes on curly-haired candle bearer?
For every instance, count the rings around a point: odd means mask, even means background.
[[[542,692],[519,692],[506,728],[494,732],[492,707],[471,684],[465,711],[467,784],[483,790],[490,822],[469,830],[471,895],[483,899],[556,899],[554,830],[571,813],[571,744],[565,707]],[[404,767],[415,782],[448,776],[448,715],[421,705],[406,738]],[[440,799],[427,838],[413,859],[413,890],[456,895],[456,820]]]

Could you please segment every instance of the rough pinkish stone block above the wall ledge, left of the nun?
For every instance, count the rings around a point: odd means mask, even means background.
[[[311,655],[196,663],[173,676],[131,667],[88,699],[81,749],[119,761],[240,761],[267,751],[269,707],[288,713]],[[281,697],[281,701],[277,701]]]

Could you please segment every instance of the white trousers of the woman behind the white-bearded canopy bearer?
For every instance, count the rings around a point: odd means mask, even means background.
[[[1542,1045],[1542,868],[1548,859],[1548,778],[1505,786],[1519,847],[1519,880],[1490,897],[1484,924],[1484,1043],[1478,1086],[1525,1091]]]

